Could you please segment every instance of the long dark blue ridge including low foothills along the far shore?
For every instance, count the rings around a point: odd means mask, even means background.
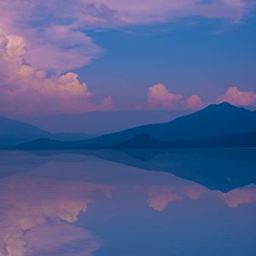
[[[254,147],[256,112],[223,102],[174,119],[76,142],[35,141],[20,149]]]

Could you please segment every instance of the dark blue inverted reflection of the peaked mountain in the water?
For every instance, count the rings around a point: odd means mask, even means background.
[[[92,151],[104,160],[169,172],[212,190],[228,192],[256,183],[256,148]]]

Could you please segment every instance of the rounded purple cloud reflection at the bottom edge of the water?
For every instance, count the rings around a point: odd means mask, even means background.
[[[67,224],[36,226],[25,233],[24,240],[28,256],[90,256],[101,247],[98,238],[88,230]]]

